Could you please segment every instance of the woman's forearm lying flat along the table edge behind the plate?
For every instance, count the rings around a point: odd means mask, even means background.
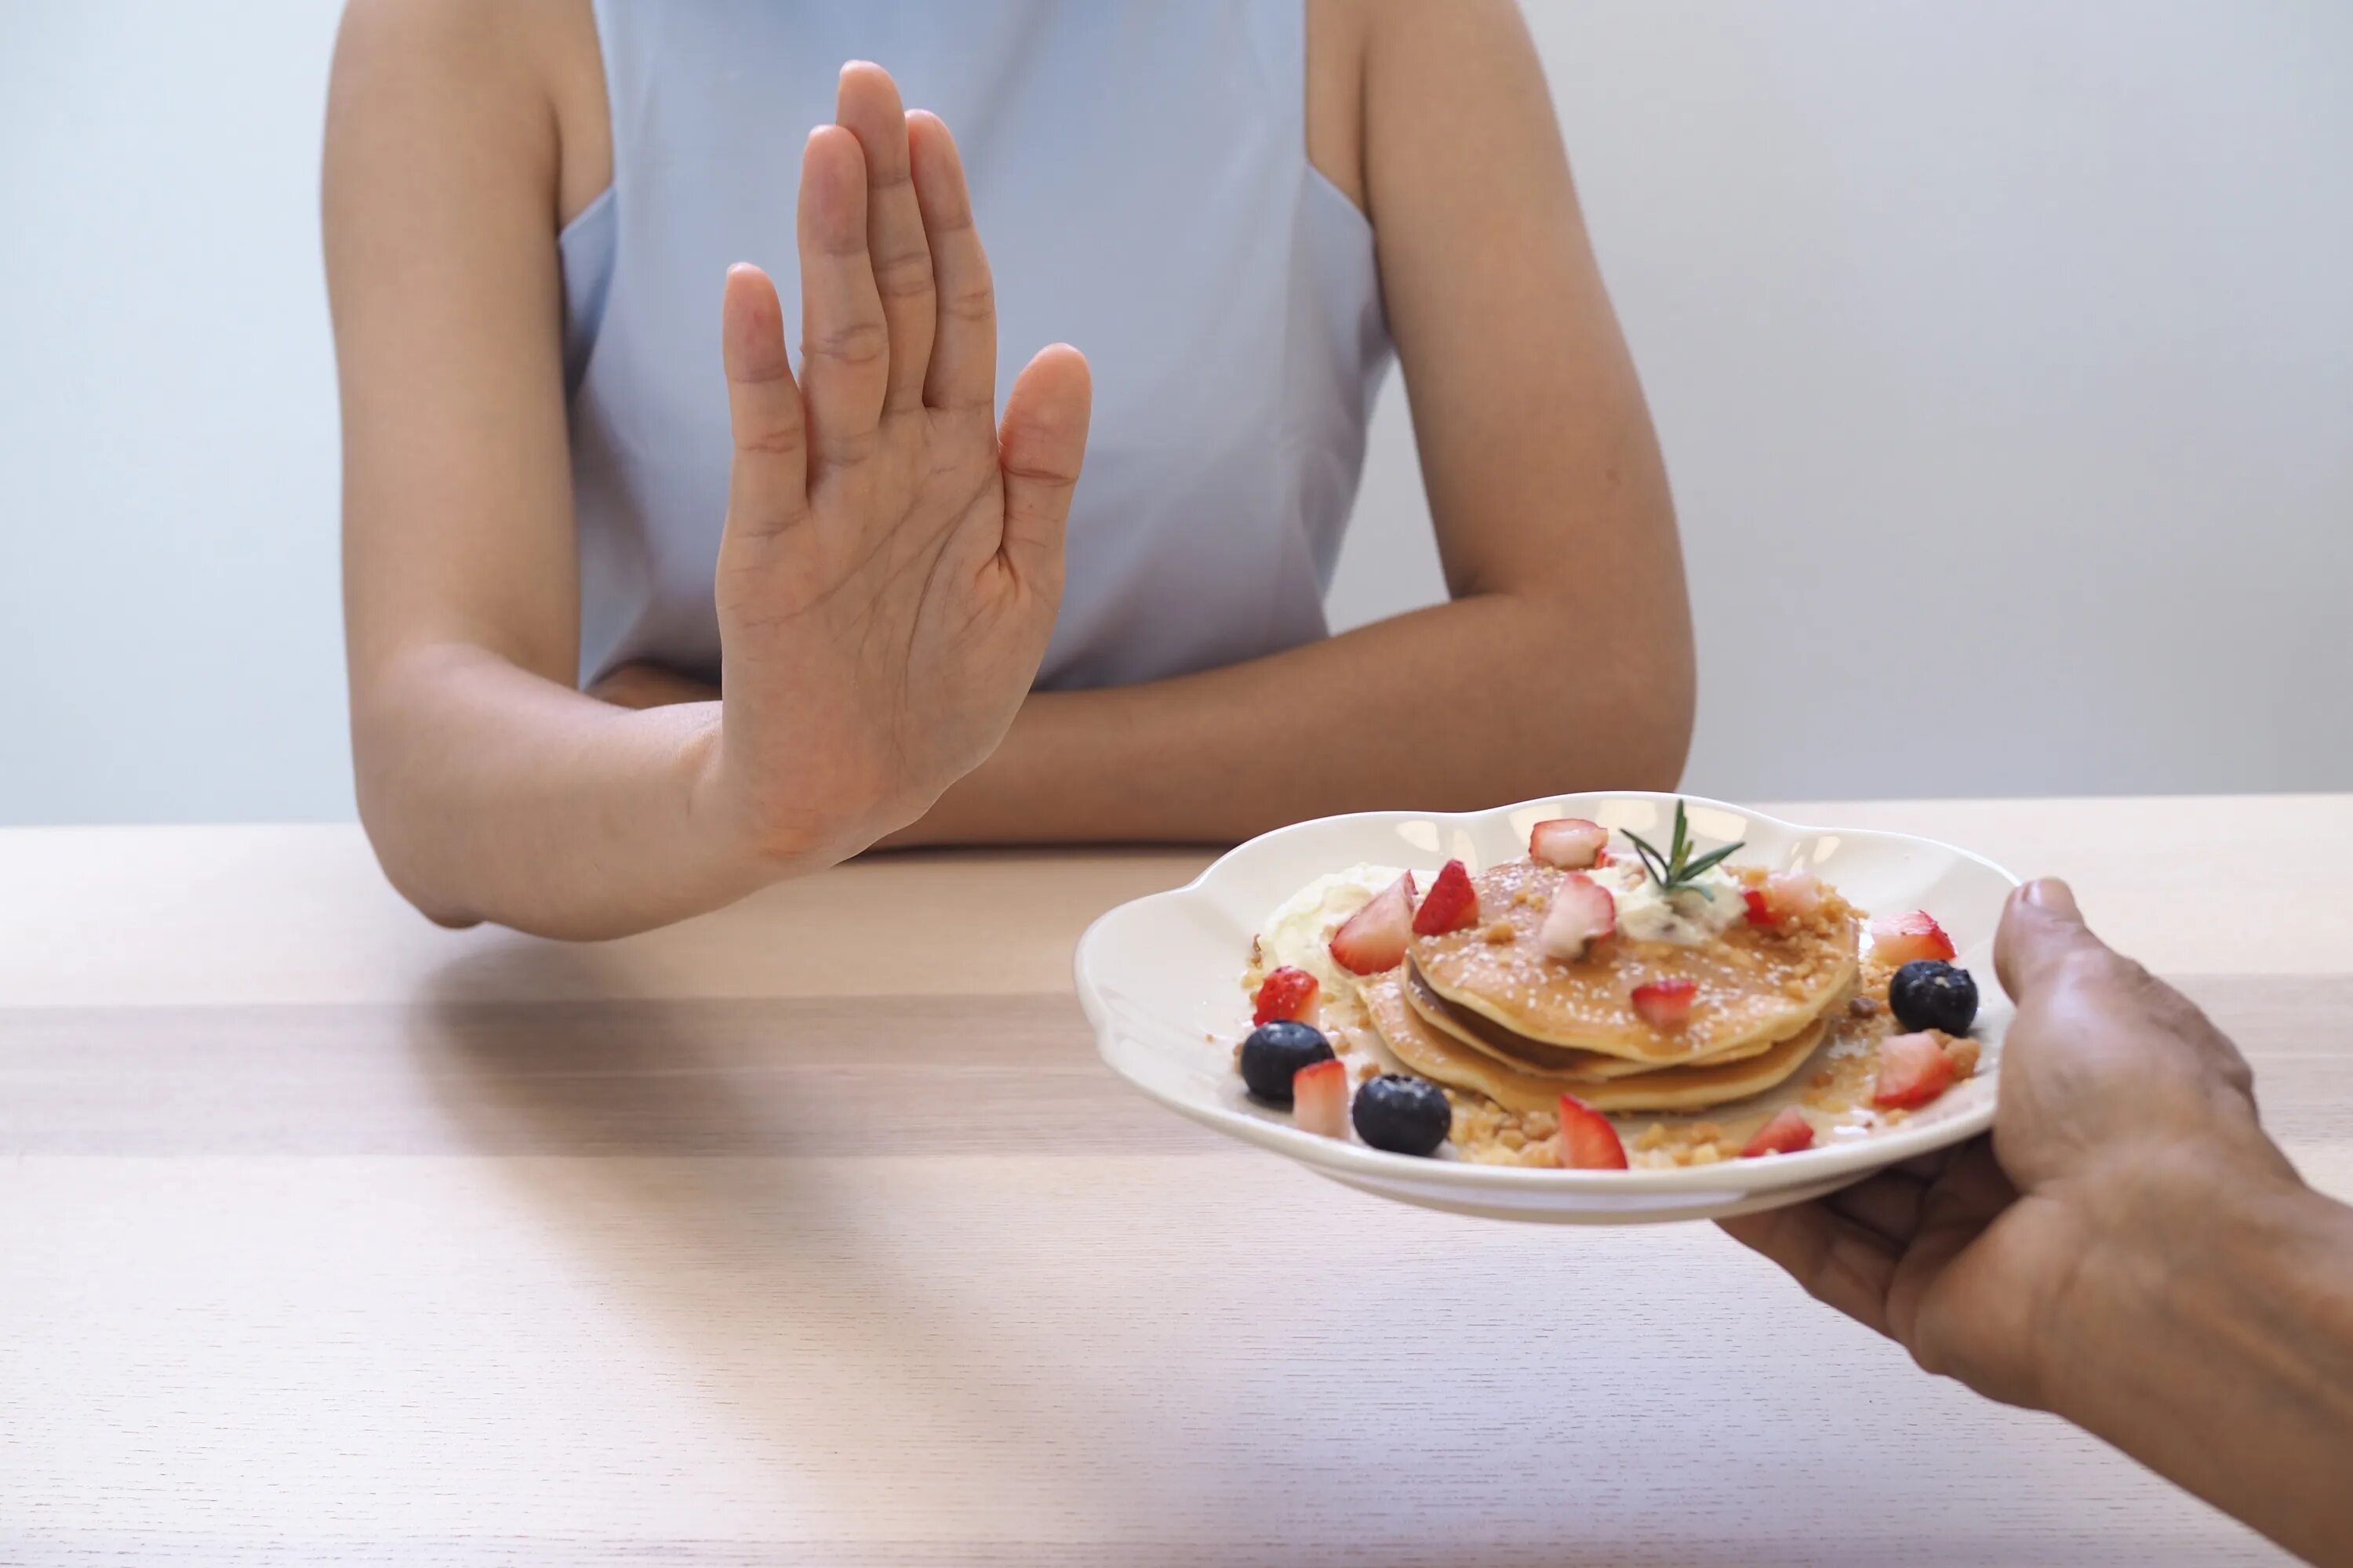
[[[1692,724],[1680,632],[1614,646],[1497,592],[1179,679],[1040,691],[889,842],[1235,842],[1334,811],[1671,788]]]

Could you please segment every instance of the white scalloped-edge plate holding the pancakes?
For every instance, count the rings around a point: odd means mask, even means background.
[[[1527,853],[1527,830],[1553,816],[1581,816],[1633,830],[1657,844],[1675,813],[1673,795],[1560,795],[1461,816],[1365,811],[1280,827],[1242,844],[1172,893],[1136,898],[1094,922],[1078,940],[1078,999],[1111,1070],[1221,1133],[1257,1143],[1402,1204],[1501,1220],[1638,1225],[1708,1220],[1798,1204],[1864,1175],[1993,1126],[1993,1084],[2012,1006],[1993,978],[1993,929],[2017,886],[2000,865],[1951,844],[1901,832],[1798,827],[1722,802],[1685,795],[1692,835],[1713,846],[1746,839],[1739,865],[1821,872],[1857,907],[1875,914],[1927,910],[1977,978],[1977,1077],[1948,1088],[1899,1126],[1831,1140],[1800,1154],[1734,1159],[1664,1171],[1532,1171],[1386,1154],[1362,1143],[1318,1138],[1287,1112],[1252,1100],[1233,1070],[1233,1046],[1249,1032],[1242,969],[1249,938],[1275,905],[1325,872],[1358,863],[1428,872],[1449,858],[1471,870]],[[1807,1074],[1746,1107],[1795,1100]],[[1675,1117],[1617,1117],[1619,1128]]]

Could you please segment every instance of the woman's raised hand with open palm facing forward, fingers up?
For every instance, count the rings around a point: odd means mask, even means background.
[[[998,317],[948,127],[842,68],[800,162],[800,381],[776,289],[727,273],[734,428],[708,783],[760,853],[840,858],[1005,736],[1054,630],[1087,360],[995,418]]]

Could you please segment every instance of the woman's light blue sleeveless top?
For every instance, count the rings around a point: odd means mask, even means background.
[[[1040,686],[1325,635],[1388,369],[1372,228],[1306,160],[1304,0],[598,0],[612,188],[562,233],[581,675],[715,677],[720,280],[755,261],[798,355],[800,146],[842,61],[955,132],[998,287],[998,400],[1094,367]]]

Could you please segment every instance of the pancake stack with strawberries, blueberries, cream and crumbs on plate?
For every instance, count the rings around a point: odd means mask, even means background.
[[[1308,1131],[1581,1168],[1786,1154],[1974,1072],[1977,987],[1932,914],[1866,922],[1739,849],[1699,851],[1678,802],[1664,846],[1555,818],[1525,858],[1426,889],[1318,877],[1252,943],[1238,1067]]]

